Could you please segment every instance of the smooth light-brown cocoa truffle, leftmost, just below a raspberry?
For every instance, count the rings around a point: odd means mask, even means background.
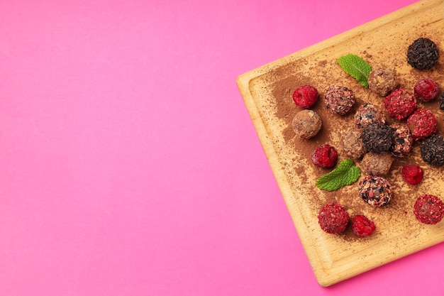
[[[293,131],[299,138],[309,139],[321,130],[321,117],[313,110],[302,110],[296,113],[292,122]]]

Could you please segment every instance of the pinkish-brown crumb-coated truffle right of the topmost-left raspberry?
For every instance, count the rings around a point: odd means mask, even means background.
[[[356,98],[353,90],[339,85],[332,85],[327,89],[324,102],[331,113],[345,115],[355,105]]]

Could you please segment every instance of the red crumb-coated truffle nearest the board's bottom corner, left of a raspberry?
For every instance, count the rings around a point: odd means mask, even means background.
[[[321,229],[328,234],[340,234],[347,228],[350,216],[344,207],[329,202],[319,210],[318,221]]]

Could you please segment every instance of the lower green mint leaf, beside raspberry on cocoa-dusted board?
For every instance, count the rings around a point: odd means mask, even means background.
[[[353,160],[343,160],[338,168],[316,180],[316,186],[322,190],[335,191],[346,185],[350,185],[361,175],[360,168],[357,168]]]

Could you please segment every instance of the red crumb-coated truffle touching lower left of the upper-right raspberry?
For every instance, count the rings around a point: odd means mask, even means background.
[[[416,110],[416,100],[414,94],[399,88],[385,97],[384,106],[389,116],[403,120]]]

